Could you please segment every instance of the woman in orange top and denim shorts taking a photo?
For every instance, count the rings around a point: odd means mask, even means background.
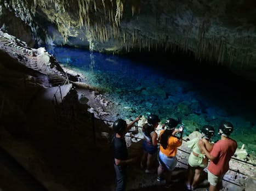
[[[175,169],[177,164],[177,147],[181,146],[183,138],[183,128],[175,129],[178,121],[173,118],[169,118],[165,125],[166,130],[160,132],[160,152],[158,155],[159,166],[157,169],[157,181],[163,180],[163,174],[166,172],[166,187],[170,187],[171,171]],[[180,133],[180,138],[174,136]]]

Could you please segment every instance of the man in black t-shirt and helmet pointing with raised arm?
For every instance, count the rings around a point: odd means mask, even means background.
[[[126,139],[124,135],[135,122],[139,121],[140,116],[138,116],[132,123],[128,124],[126,121],[119,119],[113,124],[113,130],[115,135],[112,140],[113,147],[113,157],[114,157],[114,168],[116,171],[116,191],[121,191],[126,189],[126,169],[127,164],[135,162],[136,158],[128,158],[128,151],[126,147]]]

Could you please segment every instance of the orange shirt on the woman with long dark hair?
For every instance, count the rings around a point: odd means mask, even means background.
[[[164,130],[161,130],[160,132],[160,138]],[[181,145],[181,141],[179,141],[177,138],[174,136],[170,136],[168,139],[168,145],[167,148],[164,149],[162,145],[160,145],[160,151],[165,154],[167,157],[174,157],[176,156],[177,153],[177,147]]]

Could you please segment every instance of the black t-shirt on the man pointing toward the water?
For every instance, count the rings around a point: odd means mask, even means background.
[[[112,140],[112,147],[113,147],[113,156],[114,156],[114,158],[120,159],[120,160],[127,160],[128,159],[126,139],[116,138],[116,135],[114,135],[113,140]]]

